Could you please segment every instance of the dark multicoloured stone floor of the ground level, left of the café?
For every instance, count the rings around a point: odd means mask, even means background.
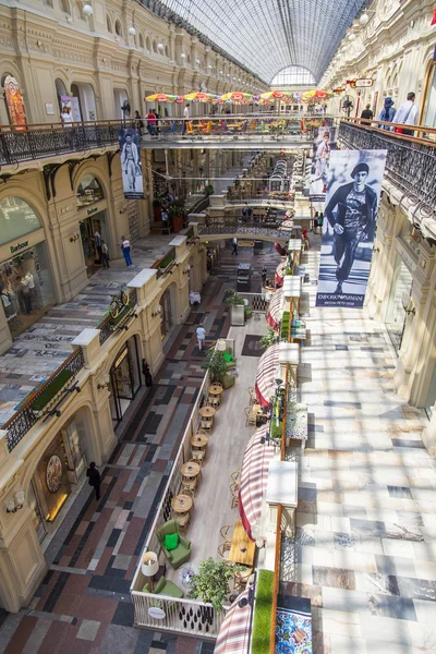
[[[204,372],[195,329],[202,320],[206,344],[229,329],[222,304],[234,287],[237,263],[252,261],[254,283],[264,265],[280,257],[268,244],[255,257],[228,251],[186,323],[174,329],[154,386],[136,405],[109,462],[102,468],[101,499],[85,484],[45,553],[49,571],[27,609],[2,615],[4,654],[203,654],[214,644],[133,628],[129,589],[156,507],[167,484]]]

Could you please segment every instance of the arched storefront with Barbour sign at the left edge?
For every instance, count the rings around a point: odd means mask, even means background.
[[[0,293],[11,337],[56,304],[45,232],[21,197],[0,201]]]

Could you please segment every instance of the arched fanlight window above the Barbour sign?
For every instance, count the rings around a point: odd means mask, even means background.
[[[16,241],[39,229],[40,220],[22,197],[8,195],[0,201],[0,244]]]

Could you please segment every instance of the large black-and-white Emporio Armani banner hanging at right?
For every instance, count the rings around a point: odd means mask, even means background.
[[[363,306],[386,154],[330,153],[316,306]]]

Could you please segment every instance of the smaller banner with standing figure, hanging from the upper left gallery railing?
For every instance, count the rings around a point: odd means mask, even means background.
[[[124,197],[128,199],[142,199],[144,197],[144,181],[138,130],[125,128],[118,130],[118,142],[120,144]]]

